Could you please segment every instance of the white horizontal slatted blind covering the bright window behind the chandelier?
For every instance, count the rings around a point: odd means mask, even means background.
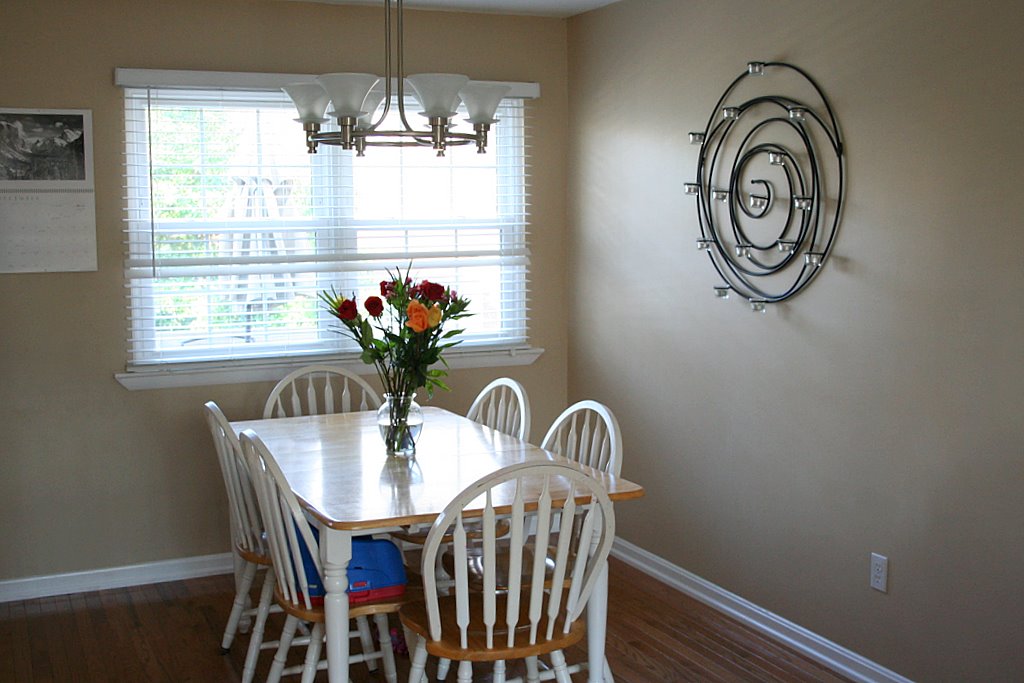
[[[125,89],[129,372],[354,351],[317,293],[361,303],[410,262],[471,299],[464,346],[525,343],[522,100],[486,155],[308,155],[294,117],[280,91]]]

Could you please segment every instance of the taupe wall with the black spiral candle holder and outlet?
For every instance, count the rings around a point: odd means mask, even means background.
[[[922,681],[1024,671],[1022,29],[1009,1],[569,22],[569,397],[608,400],[647,486],[622,533]],[[835,257],[765,315],[714,299],[682,194],[758,59],[816,78],[849,156]]]

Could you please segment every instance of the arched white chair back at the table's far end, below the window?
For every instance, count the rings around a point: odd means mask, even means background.
[[[380,396],[358,375],[334,366],[314,365],[299,368],[278,382],[267,396],[263,417],[376,411],[380,405]]]

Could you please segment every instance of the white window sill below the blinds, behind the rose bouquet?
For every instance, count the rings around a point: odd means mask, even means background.
[[[444,354],[453,370],[469,368],[504,368],[528,366],[544,353],[543,348],[516,346],[504,348],[467,348],[450,350]],[[330,362],[359,375],[373,375],[372,366],[359,360],[355,354],[324,357],[288,358],[287,360],[237,361],[231,364],[182,364],[161,366],[152,370],[135,370],[115,374],[115,379],[130,391],[142,389],[172,389],[178,387],[210,386],[214,384],[244,384],[246,382],[275,382],[293,370],[313,362]]]

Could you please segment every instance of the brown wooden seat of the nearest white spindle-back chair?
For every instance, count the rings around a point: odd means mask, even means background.
[[[498,614],[506,613],[505,596],[497,598]],[[527,600],[524,600],[526,602]],[[553,650],[565,649],[577,644],[583,639],[587,631],[583,621],[578,620],[569,627],[568,633],[562,633],[564,620],[555,622],[554,636],[551,640],[543,640],[548,629],[548,620],[539,623],[539,642],[529,642],[529,618],[526,615],[526,605],[520,605],[519,628],[515,629],[515,640],[512,647],[508,646],[508,628],[505,624],[495,625],[494,647],[486,646],[486,633],[483,630],[483,605],[482,600],[474,600],[470,606],[470,628],[467,634],[468,648],[462,647],[458,618],[456,615],[455,597],[441,597],[438,600],[438,608],[441,622],[440,640],[430,639],[429,624],[427,617],[427,605],[422,600],[407,602],[398,610],[401,624],[410,631],[426,639],[427,652],[434,656],[460,661],[498,661],[501,659],[518,659],[521,657],[546,654]]]

